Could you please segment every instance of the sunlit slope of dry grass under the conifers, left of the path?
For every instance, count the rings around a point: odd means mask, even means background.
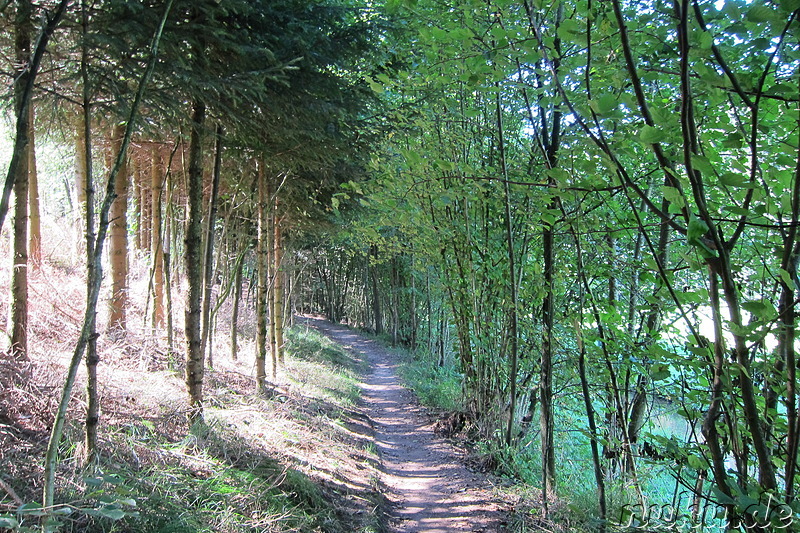
[[[0,359],[0,515],[40,498],[44,449],[84,313],[83,269],[63,239],[51,242],[45,261],[30,272],[30,363]],[[0,242],[0,250],[7,247]],[[143,319],[150,308],[143,255],[132,255],[130,273],[127,334],[104,334],[102,301],[98,314],[99,471],[117,474],[141,511],[139,518],[116,522],[114,530],[377,531],[377,459],[368,421],[352,408],[353,367],[290,353],[274,393],[257,397],[248,335],[254,311],[241,309],[240,353],[233,361],[226,304],[212,341],[215,368],[205,382],[207,426],[190,428],[181,356],[170,352],[165,332],[151,331]],[[0,265],[4,317],[9,277],[9,265]],[[179,348],[179,283],[174,292]],[[308,334],[301,335],[307,343]],[[102,494],[84,481],[84,381],[82,369],[61,448],[58,491],[62,502],[86,508],[98,505]],[[120,493],[108,484],[102,490]],[[109,523],[76,513],[64,527],[106,531]]]

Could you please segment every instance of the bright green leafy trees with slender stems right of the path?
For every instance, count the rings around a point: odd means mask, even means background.
[[[388,9],[391,126],[307,305],[455,368],[501,462],[539,443],[545,512],[576,432],[604,520],[664,467],[694,523],[800,510],[800,2]]]

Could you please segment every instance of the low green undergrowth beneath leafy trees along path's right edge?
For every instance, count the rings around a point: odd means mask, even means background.
[[[447,436],[458,435],[467,442],[477,466],[489,468],[504,477],[510,484],[508,489],[517,500],[509,528],[522,533],[527,531],[590,532],[600,530],[597,492],[594,474],[585,465],[591,464],[591,450],[581,427],[582,405],[570,406],[570,399],[562,398],[557,417],[558,496],[551,495],[549,514],[542,516],[541,455],[538,432],[529,433],[512,447],[506,446],[498,435],[487,438],[479,430],[470,427],[463,404],[462,376],[452,366],[439,366],[434,357],[417,352],[406,354],[401,367],[406,384],[414,390],[420,401],[439,413],[439,429]],[[668,406],[667,406],[668,407]],[[674,415],[674,414],[673,414]],[[644,433],[672,434],[681,428],[670,427],[678,417],[672,416],[668,408],[653,416],[644,428]],[[675,472],[658,461],[642,460],[639,465],[639,481],[648,503],[661,508],[680,498],[681,487],[676,484]],[[609,515],[605,524],[607,531],[628,531],[630,516],[626,509],[639,505],[633,487],[607,480]]]

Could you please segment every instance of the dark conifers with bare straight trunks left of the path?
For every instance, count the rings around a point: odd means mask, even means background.
[[[86,450],[90,464],[99,460],[97,316],[107,315],[108,334],[125,335],[134,249],[150,258],[146,327],[164,332],[170,350],[184,346],[192,421],[202,420],[204,372],[217,355],[213,335],[222,333],[215,316],[226,298],[236,310],[231,357],[239,301],[254,299],[257,390],[269,386],[270,363],[274,380],[290,316],[285,250],[322,216],[337,184],[361,172],[365,109],[374,100],[362,76],[380,63],[373,41],[383,18],[346,1],[19,0],[0,8],[15,123],[0,202],[0,224],[13,219],[8,357],[28,360],[27,271],[42,257],[41,138],[74,152],[67,193],[86,261],[83,325],[45,458],[48,507],[83,360]],[[110,299],[101,302],[106,250]],[[247,278],[252,294],[242,290]],[[181,280],[183,340],[173,333]]]

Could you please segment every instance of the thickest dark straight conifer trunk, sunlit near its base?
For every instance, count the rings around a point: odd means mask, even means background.
[[[203,138],[206,106],[202,100],[192,104],[192,129],[189,144],[187,179],[188,212],[186,223],[186,387],[189,392],[189,420],[203,420],[204,357],[200,334],[203,290],[202,219],[203,219]]]

